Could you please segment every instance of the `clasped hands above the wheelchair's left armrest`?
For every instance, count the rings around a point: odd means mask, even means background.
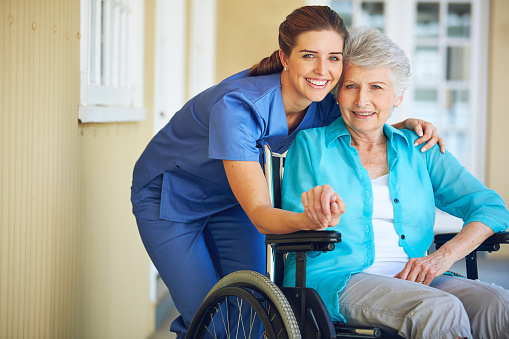
[[[311,229],[326,229],[339,223],[346,205],[330,185],[315,186],[301,196],[304,212],[313,222]]]

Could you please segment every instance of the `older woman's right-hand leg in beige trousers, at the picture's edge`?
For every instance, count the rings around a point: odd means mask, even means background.
[[[474,338],[509,338],[509,291],[493,283],[440,276],[431,286],[455,295],[465,307]]]

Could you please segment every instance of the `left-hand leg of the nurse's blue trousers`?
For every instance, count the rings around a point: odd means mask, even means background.
[[[181,314],[172,326],[183,338],[194,314],[219,277],[202,228],[206,220],[182,224],[159,218],[160,184],[133,196],[133,212],[143,244]]]

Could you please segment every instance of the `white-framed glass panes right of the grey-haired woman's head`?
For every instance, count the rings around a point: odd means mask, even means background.
[[[415,30],[415,114],[440,128],[447,148],[471,171],[476,154],[469,145],[478,139],[475,122],[476,80],[472,64],[474,40],[472,3],[417,2]]]

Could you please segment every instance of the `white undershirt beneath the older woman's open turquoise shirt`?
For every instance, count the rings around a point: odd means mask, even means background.
[[[389,175],[371,180],[371,184],[373,186],[375,262],[364,272],[393,277],[403,270],[409,258],[403,247],[399,246],[399,236],[394,229]]]

